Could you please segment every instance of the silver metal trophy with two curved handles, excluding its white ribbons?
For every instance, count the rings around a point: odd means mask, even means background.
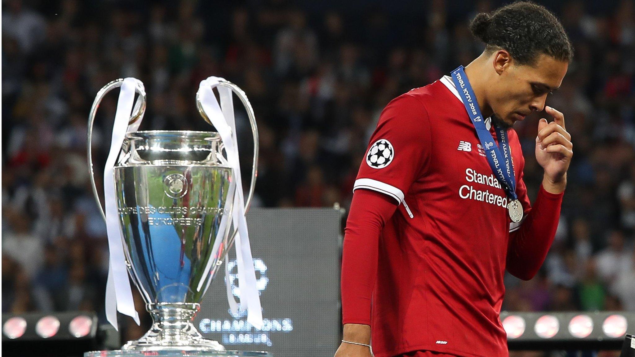
[[[102,205],[91,159],[93,122],[102,98],[122,83],[123,79],[117,79],[104,86],[97,93],[90,112],[88,160],[93,193],[100,209]],[[251,124],[254,151],[250,190],[245,202],[247,208],[257,175],[255,116],[240,88],[229,81],[221,81],[219,85],[229,86],[236,93]],[[137,91],[139,97],[130,124],[142,118],[145,111],[145,91]],[[198,94],[196,103],[203,118],[211,124],[201,108]],[[233,200],[228,197],[234,177],[224,156],[220,135],[215,131],[127,133],[114,175],[126,266],[153,323],[141,339],[129,341],[119,351],[121,354],[111,355],[131,356],[147,351],[163,355],[165,351],[188,351],[190,355],[204,356],[268,356],[266,353],[224,353],[222,345],[204,339],[192,324],[203,294],[236,234],[235,229],[230,234],[232,225],[227,224],[234,211]],[[105,219],[103,210],[102,214]],[[222,224],[224,217],[227,222]],[[213,247],[216,247],[215,252]]]

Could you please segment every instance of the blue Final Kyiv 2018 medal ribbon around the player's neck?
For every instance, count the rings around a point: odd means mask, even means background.
[[[494,126],[498,143],[500,144],[499,148],[494,141],[494,138],[491,137],[490,131],[487,130],[485,126],[485,118],[483,118],[483,114],[481,114],[481,108],[479,108],[478,102],[476,102],[476,95],[474,95],[474,91],[472,90],[472,86],[465,75],[462,65],[452,71],[452,81],[455,86],[457,86],[458,92],[460,92],[463,96],[463,105],[465,105],[465,110],[470,116],[472,124],[474,124],[474,128],[476,128],[476,134],[478,135],[479,140],[481,140],[481,145],[483,145],[483,149],[487,154],[487,161],[490,163],[491,171],[493,171],[494,175],[496,175],[498,181],[507,193],[507,197],[512,201],[518,199],[518,195],[516,194],[514,164],[511,161],[511,152],[509,151],[509,142],[507,141],[507,131],[503,128],[497,128]],[[502,154],[500,149],[502,149]],[[504,161],[505,167],[503,167],[501,161]]]

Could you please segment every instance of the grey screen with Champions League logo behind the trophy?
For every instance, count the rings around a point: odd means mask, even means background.
[[[264,326],[231,314],[219,269],[194,322],[227,349],[269,351],[274,357],[333,356],[340,338],[341,213],[333,208],[253,208],[247,215]],[[232,248],[229,280],[237,300]]]

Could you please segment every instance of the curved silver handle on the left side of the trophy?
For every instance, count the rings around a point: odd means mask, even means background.
[[[97,185],[95,185],[95,170],[93,169],[93,124],[95,123],[95,115],[97,114],[97,109],[99,108],[99,104],[104,99],[105,95],[113,90],[114,88],[120,87],[123,84],[123,78],[115,79],[114,81],[106,84],[97,92],[97,96],[95,97],[95,101],[93,101],[93,106],[90,109],[90,116],[88,116],[88,170],[90,170],[90,184],[93,186],[93,195],[95,195],[95,201],[97,201],[97,206],[99,207],[99,211],[102,213],[102,217],[104,217],[104,221],[106,220],[106,214],[104,213],[104,208],[102,208],[102,202],[99,200],[99,194],[97,192]],[[135,101],[135,106],[132,110],[132,115],[130,116],[130,120],[128,121],[128,125],[136,123],[138,120],[144,118],[145,113],[145,89],[137,84],[137,88],[135,91],[139,93],[139,97]]]

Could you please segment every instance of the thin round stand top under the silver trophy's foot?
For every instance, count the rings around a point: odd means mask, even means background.
[[[84,357],[273,357],[265,351],[128,351],[116,349],[114,351],[90,351]]]

